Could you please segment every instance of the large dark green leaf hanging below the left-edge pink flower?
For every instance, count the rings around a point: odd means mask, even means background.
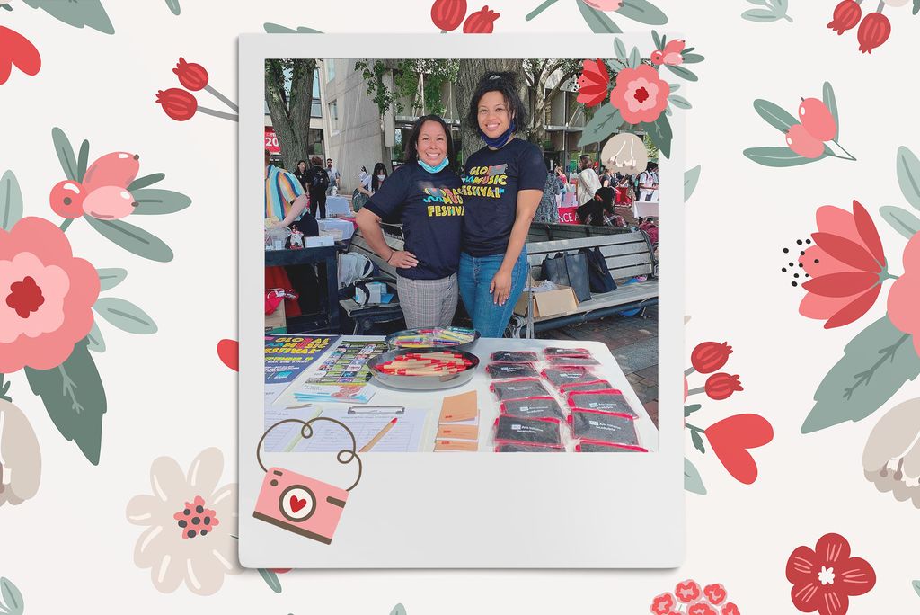
[[[25,369],[29,387],[40,396],[61,435],[75,441],[89,462],[98,465],[106,392],[87,344],[76,342],[74,352],[60,366]]]

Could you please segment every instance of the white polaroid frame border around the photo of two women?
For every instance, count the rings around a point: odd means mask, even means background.
[[[649,50],[648,33],[617,35]],[[673,568],[684,560],[684,113],[661,158],[659,442],[649,454],[365,454],[330,545],[253,517],[264,472],[264,62],[612,58],[614,36],[243,34],[239,38],[239,560],[250,568]],[[296,455],[264,455],[294,471]],[[309,458],[315,458],[310,455]],[[332,457],[332,456],[330,456]],[[312,461],[311,461],[312,463]]]

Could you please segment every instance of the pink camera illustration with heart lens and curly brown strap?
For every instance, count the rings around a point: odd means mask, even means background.
[[[285,423],[299,423],[303,424],[301,434],[309,438],[313,435],[311,424],[314,421],[339,424],[351,436],[351,450],[347,448],[340,450],[336,456],[339,463],[342,464],[351,463],[352,460],[358,461],[358,478],[348,489],[341,489],[291,470],[282,468],[266,470],[262,463],[262,443],[272,429]],[[316,417],[307,422],[287,419],[271,425],[262,435],[259,446],[256,448],[256,458],[259,460],[261,469],[265,470],[265,480],[262,482],[259,499],[256,501],[256,509],[252,516],[308,539],[331,544],[332,535],[339,525],[339,518],[345,509],[349,492],[361,481],[362,463],[361,458],[355,453],[355,447],[354,434],[351,433],[351,429],[335,419]]]

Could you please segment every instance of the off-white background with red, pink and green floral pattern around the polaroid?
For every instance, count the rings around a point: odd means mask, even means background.
[[[920,608],[920,0],[702,8],[0,3],[0,613]],[[582,93],[660,146],[687,114],[681,569],[238,568],[226,120],[237,34],[298,29],[648,32],[609,65],[666,101],[589,63]]]

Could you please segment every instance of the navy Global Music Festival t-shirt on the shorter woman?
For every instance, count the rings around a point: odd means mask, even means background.
[[[407,163],[393,171],[364,205],[382,219],[402,222],[406,249],[419,264],[397,269],[399,275],[440,280],[456,273],[463,232],[462,183],[449,168],[429,173],[416,162]]]

